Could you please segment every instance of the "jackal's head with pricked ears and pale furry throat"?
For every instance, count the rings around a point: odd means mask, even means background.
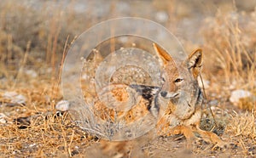
[[[172,112],[185,119],[195,112],[195,106],[202,101],[201,89],[197,82],[202,63],[201,48],[192,52],[187,59],[180,61],[173,59],[157,44],[153,45],[164,70],[162,76],[164,83],[160,96],[170,99],[175,109]]]

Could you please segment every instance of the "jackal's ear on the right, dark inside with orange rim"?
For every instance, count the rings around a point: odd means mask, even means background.
[[[195,49],[187,59],[187,65],[190,71],[192,71],[193,76],[196,78],[200,73],[200,68],[202,64],[202,50],[201,48]]]

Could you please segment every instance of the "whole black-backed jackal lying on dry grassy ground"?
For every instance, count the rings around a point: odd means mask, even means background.
[[[121,108],[126,108],[127,104],[136,105],[131,110],[116,113],[113,110],[108,110],[107,105],[104,104],[107,102],[96,101],[96,116],[108,121],[114,121],[116,117],[118,119],[123,118],[126,123],[131,123],[146,116],[147,113],[158,117],[160,104],[168,103],[166,110],[162,111],[163,116],[157,121],[156,127],[159,135],[183,134],[191,143],[196,138],[195,133],[197,133],[205,141],[223,147],[223,141],[215,133],[200,128],[203,93],[197,78],[202,65],[201,48],[192,52],[188,59],[179,61],[174,60],[170,54],[155,43],[153,47],[163,65],[162,87],[113,84],[107,88],[108,92],[106,93],[111,93],[110,95],[114,96],[116,100],[123,102],[124,104],[120,104]],[[102,141],[102,143],[103,146],[110,148],[109,145],[104,145],[106,141]],[[116,148],[118,143],[113,144],[115,144],[113,148]],[[120,144],[124,145],[126,142],[120,142]],[[107,148],[105,150],[106,152],[109,151]]]

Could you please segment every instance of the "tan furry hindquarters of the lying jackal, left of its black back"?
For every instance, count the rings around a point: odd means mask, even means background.
[[[115,100],[117,106],[109,107],[108,104],[113,104],[113,100]],[[102,94],[102,100],[96,100],[94,114],[104,121],[115,121],[118,119],[125,121],[125,123],[131,123],[149,113],[147,105],[148,100],[137,96],[137,93],[131,87],[113,84],[106,88],[106,92]]]

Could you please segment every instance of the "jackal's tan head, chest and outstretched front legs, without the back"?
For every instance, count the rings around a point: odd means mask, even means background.
[[[167,93],[166,98],[163,98],[170,101],[165,115],[158,122],[159,134],[183,134],[188,140],[192,140],[195,138],[194,133],[199,133],[206,141],[222,146],[222,140],[215,133],[203,131],[199,127],[203,100],[197,82],[202,64],[201,48],[192,52],[185,61],[174,61],[163,48],[156,44],[153,46],[163,60],[166,82],[162,91]],[[177,93],[177,97],[168,98],[169,93],[172,93],[172,96],[173,93]]]

